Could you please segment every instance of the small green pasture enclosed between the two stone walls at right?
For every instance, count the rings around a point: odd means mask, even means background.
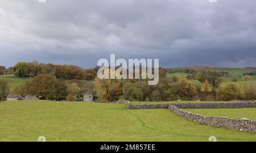
[[[250,118],[256,120],[256,108],[218,108],[218,109],[184,109],[184,111],[205,116],[224,116],[230,118]]]

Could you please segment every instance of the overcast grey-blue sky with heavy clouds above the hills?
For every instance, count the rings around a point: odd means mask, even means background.
[[[115,54],[163,67],[256,67],[255,0],[39,1],[0,1],[0,65],[90,68]]]

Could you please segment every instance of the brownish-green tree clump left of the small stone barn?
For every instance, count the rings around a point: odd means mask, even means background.
[[[53,101],[81,101],[85,89],[81,89],[80,80],[57,79],[51,74],[38,75],[28,79],[25,83],[18,84],[12,90],[12,94],[35,95],[41,100]],[[92,90],[88,86],[87,89]],[[7,95],[7,94],[6,94]]]

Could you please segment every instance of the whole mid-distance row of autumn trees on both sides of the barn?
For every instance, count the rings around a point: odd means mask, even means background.
[[[193,86],[186,78],[178,79],[176,76],[167,78],[164,75],[161,75],[159,84],[156,86],[148,86],[148,80],[143,79],[96,79],[90,90],[95,92],[99,100],[109,101],[118,99],[131,101],[256,99],[256,90],[253,86],[238,87],[228,84],[214,88],[206,79],[201,87]],[[26,83],[16,86],[11,93],[22,96],[36,95],[39,99],[46,100],[80,101],[84,91],[76,82],[57,79],[51,74],[46,74],[30,78]],[[8,94],[7,83],[0,82],[0,99]]]

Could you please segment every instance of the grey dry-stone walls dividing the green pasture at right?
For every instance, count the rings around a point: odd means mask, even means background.
[[[129,109],[169,109],[170,111],[185,117],[188,120],[210,126],[216,126],[231,130],[240,130],[256,134],[256,121],[247,118],[236,119],[228,117],[207,117],[201,114],[182,111],[182,109],[207,109],[207,108],[256,108],[256,102],[233,102],[233,103],[179,103],[179,104],[150,104],[131,105]]]

